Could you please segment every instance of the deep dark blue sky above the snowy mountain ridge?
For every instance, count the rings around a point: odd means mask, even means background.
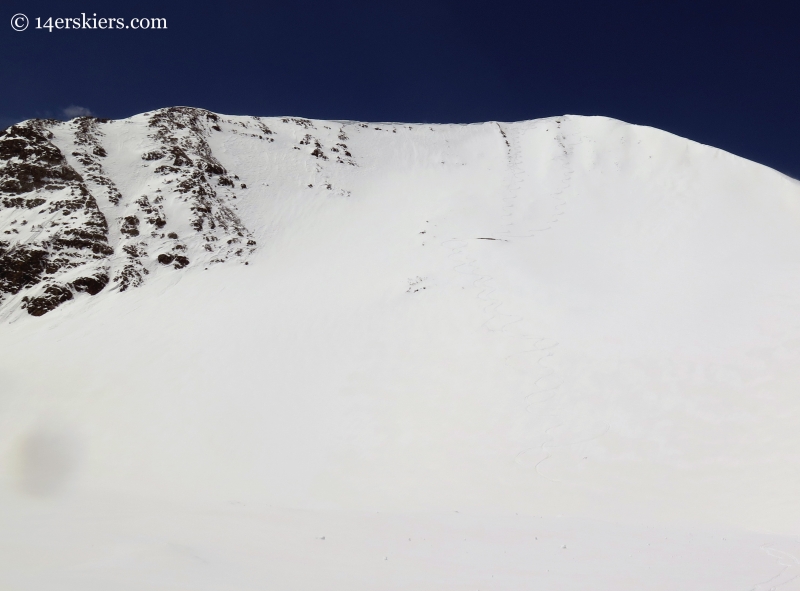
[[[10,0],[0,127],[71,105],[113,118],[171,105],[409,122],[606,115],[800,178],[798,4]],[[18,12],[24,32],[10,26]],[[82,12],[168,29],[34,30]]]

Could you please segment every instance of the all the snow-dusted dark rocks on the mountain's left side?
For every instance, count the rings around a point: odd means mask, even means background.
[[[41,316],[79,293],[141,285],[158,268],[244,261],[253,252],[234,206],[239,177],[207,141],[219,116],[178,107],[148,117],[141,166],[151,174],[146,190],[130,194],[106,166],[108,120],[30,120],[0,132],[4,311]],[[266,125],[254,119],[253,127],[270,141]]]

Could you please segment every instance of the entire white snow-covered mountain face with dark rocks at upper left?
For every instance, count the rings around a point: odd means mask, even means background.
[[[796,181],[598,117],[0,153],[0,586],[800,584]]]

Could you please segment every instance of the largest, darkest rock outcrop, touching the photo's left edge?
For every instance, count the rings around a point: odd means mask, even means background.
[[[108,223],[83,177],[51,141],[56,121],[0,132],[0,304],[41,316],[109,282]]]

